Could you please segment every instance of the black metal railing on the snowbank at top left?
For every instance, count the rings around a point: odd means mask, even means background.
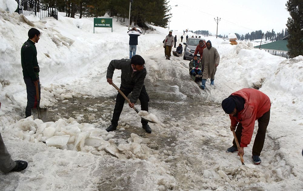
[[[17,12],[25,16],[35,15],[40,19],[54,17],[58,20],[58,9],[41,5],[39,0],[16,0],[18,3]]]

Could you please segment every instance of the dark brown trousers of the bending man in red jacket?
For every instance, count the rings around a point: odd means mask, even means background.
[[[255,137],[254,146],[252,147],[252,155],[260,156],[261,154],[265,141],[265,134],[269,123],[269,118],[270,118],[270,110],[264,113],[264,115],[258,119],[258,132]],[[236,136],[239,144],[241,142],[241,135],[242,135],[242,124],[239,123],[236,129]],[[237,147],[235,139],[233,140],[232,144],[234,147]]]

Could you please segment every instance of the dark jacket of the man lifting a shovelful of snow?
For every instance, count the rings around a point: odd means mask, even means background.
[[[130,59],[112,60],[107,67],[106,78],[112,79],[115,69],[121,70],[121,86],[133,89],[129,100],[136,103],[144,85],[145,67],[141,71],[133,72]]]

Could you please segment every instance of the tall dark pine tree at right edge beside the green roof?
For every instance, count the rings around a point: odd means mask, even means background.
[[[286,3],[287,11],[291,18],[288,18],[288,55],[294,58],[303,55],[303,3],[302,0],[289,0]]]

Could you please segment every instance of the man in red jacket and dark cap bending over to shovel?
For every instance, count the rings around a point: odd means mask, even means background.
[[[252,148],[252,159],[255,164],[260,164],[259,156],[263,149],[270,118],[271,103],[269,97],[259,90],[244,88],[232,93],[222,101],[221,105],[225,113],[229,114],[231,131],[237,127],[236,136],[240,143],[240,149],[238,150],[234,139],[233,146],[228,148],[226,152],[238,151],[238,155],[244,155],[243,148],[251,142],[255,120],[258,120],[258,132]]]

